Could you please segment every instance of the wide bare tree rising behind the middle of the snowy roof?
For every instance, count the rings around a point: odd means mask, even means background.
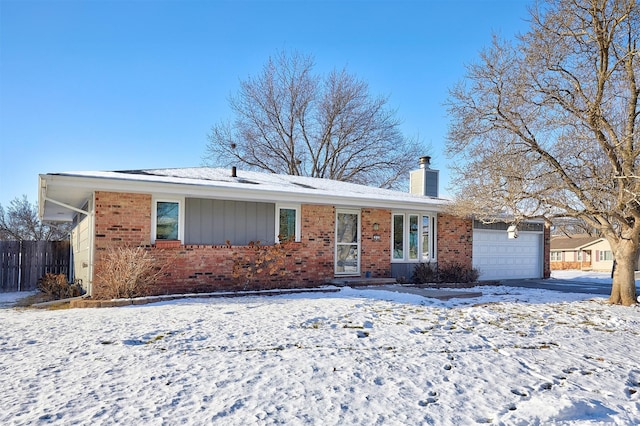
[[[386,188],[406,182],[425,147],[400,132],[388,98],[345,70],[313,73],[310,56],[279,53],[230,99],[233,123],[211,128],[205,161]]]

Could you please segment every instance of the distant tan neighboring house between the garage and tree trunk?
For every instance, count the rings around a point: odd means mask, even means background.
[[[611,271],[613,254],[606,238],[587,234],[551,237],[551,269]]]

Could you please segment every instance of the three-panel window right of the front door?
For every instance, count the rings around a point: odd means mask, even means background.
[[[394,213],[392,260],[430,262],[435,260],[435,215]]]

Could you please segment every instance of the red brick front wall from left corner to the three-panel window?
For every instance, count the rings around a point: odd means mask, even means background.
[[[301,207],[301,241],[290,243],[285,257],[285,276],[261,277],[247,282],[234,279],[237,259],[251,256],[247,246],[212,245],[150,246],[151,196],[140,194],[96,194],[95,271],[102,267],[100,253],[113,245],[146,246],[164,277],[153,294],[211,292],[219,290],[310,287],[334,277],[335,208],[324,205]],[[391,212],[362,210],[361,269],[374,277],[390,276]],[[378,230],[373,224],[378,223]],[[380,235],[374,241],[373,235]],[[94,279],[94,296],[100,297],[102,283]]]

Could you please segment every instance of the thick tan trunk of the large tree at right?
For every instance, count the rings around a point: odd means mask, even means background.
[[[615,247],[612,245],[612,248]],[[638,244],[620,239],[614,252],[613,283],[609,303],[630,306],[636,301],[635,266]]]

